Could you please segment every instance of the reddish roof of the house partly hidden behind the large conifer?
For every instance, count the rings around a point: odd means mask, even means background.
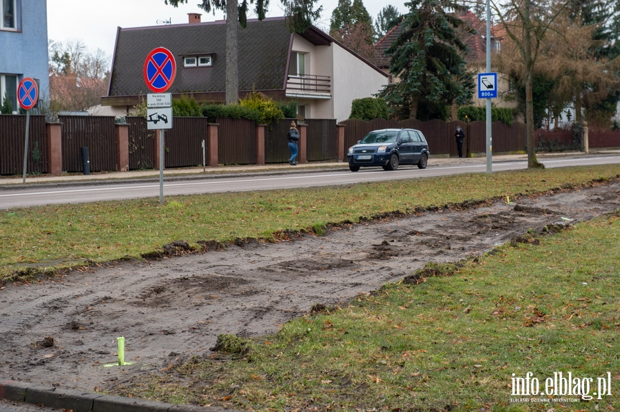
[[[459,19],[467,23],[467,27],[462,29],[462,41],[467,45],[468,52],[466,61],[473,63],[475,61],[484,60],[486,57],[486,21],[479,19],[473,12],[467,10],[459,14]],[[477,32],[473,32],[473,30]],[[386,50],[394,43],[402,32],[402,26],[397,25],[385,34],[377,43],[375,43],[375,64],[378,67],[389,68],[390,58],[385,54]]]

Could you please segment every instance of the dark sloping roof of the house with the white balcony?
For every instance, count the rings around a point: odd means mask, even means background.
[[[239,89],[282,89],[291,33],[283,18],[249,20],[238,32]],[[176,78],[171,93],[225,90],[226,24],[118,28],[108,96],[149,93],[143,66],[147,54],[165,47],[174,54]],[[183,67],[184,56],[211,56],[210,67]]]

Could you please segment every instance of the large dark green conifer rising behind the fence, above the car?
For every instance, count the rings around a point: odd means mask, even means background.
[[[467,47],[457,28],[464,22],[445,11],[459,7],[451,0],[412,0],[405,6],[402,33],[386,50],[390,72],[400,82],[379,96],[399,118],[445,118],[447,106],[473,94],[471,79],[462,76]]]

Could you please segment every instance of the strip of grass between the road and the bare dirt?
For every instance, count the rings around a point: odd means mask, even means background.
[[[321,232],[329,223],[359,221],[381,213],[541,193],[608,180],[620,166],[526,170],[487,175],[251,193],[166,197],[94,204],[54,205],[0,212],[0,281],[140,257],[183,240],[271,241],[291,231]],[[388,175],[386,174],[386,177]]]

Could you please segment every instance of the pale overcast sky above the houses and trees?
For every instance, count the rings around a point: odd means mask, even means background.
[[[172,24],[187,23],[187,13],[203,14],[202,21],[223,19],[222,12],[216,12],[215,16],[207,14],[196,6],[198,2],[189,0],[189,3],[174,8],[165,5],[164,0],[48,0],[48,39],[82,40],[90,52],[99,48],[111,57],[118,27],[156,25],[158,20],[172,20]],[[267,17],[284,15],[279,0],[271,0],[270,3]],[[404,0],[365,0],[364,6],[374,20],[390,3],[400,12],[406,12]],[[331,12],[338,5],[338,0],[324,0],[322,5],[322,19],[316,25],[327,30]]]

